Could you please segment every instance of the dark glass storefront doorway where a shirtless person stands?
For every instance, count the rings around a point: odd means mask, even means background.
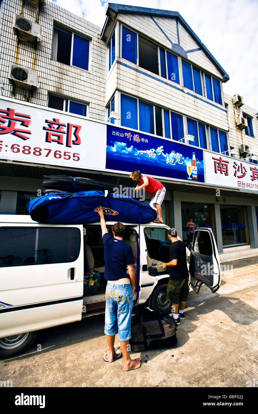
[[[190,242],[192,241],[191,236],[193,234],[191,233],[193,233],[193,229],[191,229],[191,227],[194,227],[194,229],[197,227],[209,227],[212,229],[212,232],[216,239],[215,214],[213,204],[181,202],[181,215],[183,241],[187,246],[189,246]],[[190,220],[190,217],[193,217],[192,221]],[[189,223],[193,223],[194,226]]]

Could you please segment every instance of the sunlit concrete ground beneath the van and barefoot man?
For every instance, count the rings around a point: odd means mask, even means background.
[[[258,381],[257,298],[254,286],[186,308],[177,347],[132,354],[142,364],[130,372],[122,359],[103,361],[104,315],[42,330],[27,353],[0,361],[0,380],[13,387],[247,387]]]

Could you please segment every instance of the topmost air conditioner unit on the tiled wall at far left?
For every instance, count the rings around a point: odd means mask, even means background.
[[[19,14],[14,14],[12,28],[18,38],[25,42],[29,40],[34,42],[35,38],[37,42],[42,41],[41,25],[31,22],[31,20],[25,19],[23,16],[19,16]]]

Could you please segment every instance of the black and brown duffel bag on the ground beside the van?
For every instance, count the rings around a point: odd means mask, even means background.
[[[137,313],[131,323],[131,351],[171,348],[177,344],[176,326],[167,313],[145,309]]]

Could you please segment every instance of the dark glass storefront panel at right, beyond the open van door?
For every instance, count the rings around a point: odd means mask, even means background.
[[[220,206],[223,247],[247,244],[246,207]]]

